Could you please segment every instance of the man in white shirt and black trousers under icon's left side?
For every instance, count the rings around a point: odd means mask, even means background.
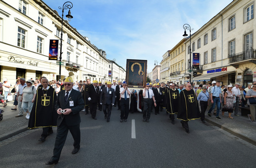
[[[131,91],[127,87],[127,83],[123,82],[123,87],[120,88],[120,106],[121,106],[121,116],[120,122],[127,122],[129,115],[129,98]]]

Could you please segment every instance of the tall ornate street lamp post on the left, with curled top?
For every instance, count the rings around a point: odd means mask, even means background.
[[[63,35],[63,32],[62,32],[62,28],[63,28],[63,13],[64,13],[64,10],[66,9],[69,9],[68,11],[68,14],[66,15],[67,17],[67,20],[68,21],[71,21],[71,19],[73,18],[72,15],[71,15],[71,12],[70,12],[70,9],[73,7],[73,4],[69,1],[65,2],[63,4],[63,7],[58,7],[60,10],[62,10],[62,18],[61,18],[61,34],[60,34],[60,74],[59,74],[59,80],[61,82],[61,59],[62,59],[62,35]]]

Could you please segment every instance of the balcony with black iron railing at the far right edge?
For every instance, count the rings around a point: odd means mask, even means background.
[[[256,49],[250,49],[241,53],[229,55],[229,64],[235,68],[238,68],[239,65],[248,62],[256,64]]]

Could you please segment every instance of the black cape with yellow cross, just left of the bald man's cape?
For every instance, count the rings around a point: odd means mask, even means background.
[[[179,90],[167,88],[166,110],[170,114],[178,114],[179,110]]]

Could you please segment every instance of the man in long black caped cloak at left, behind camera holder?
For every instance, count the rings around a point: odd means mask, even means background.
[[[33,99],[35,102],[33,101],[34,104],[30,113],[28,128],[41,127],[42,134],[38,141],[44,142],[46,137],[53,133],[52,126],[57,126],[58,114],[55,110],[55,102],[57,100],[55,89],[48,86],[47,78],[42,78],[41,83],[42,87],[36,90],[36,95]],[[26,88],[24,88],[24,92]]]

